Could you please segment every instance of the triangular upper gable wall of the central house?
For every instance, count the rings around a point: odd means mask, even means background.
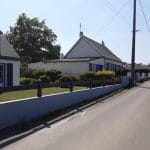
[[[100,54],[83,38],[73,47],[67,58],[101,57]]]

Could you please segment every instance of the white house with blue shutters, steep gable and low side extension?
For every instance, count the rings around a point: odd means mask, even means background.
[[[117,72],[123,68],[124,64],[105,46],[103,41],[100,44],[80,32],[79,40],[64,58],[50,60],[46,63],[32,63],[28,66],[33,69],[56,69],[63,74],[79,76],[83,73],[97,72],[104,69]]]

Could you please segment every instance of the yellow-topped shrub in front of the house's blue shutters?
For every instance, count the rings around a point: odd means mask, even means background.
[[[115,73],[113,71],[98,71],[96,72],[96,79],[98,80],[113,80],[115,77]]]

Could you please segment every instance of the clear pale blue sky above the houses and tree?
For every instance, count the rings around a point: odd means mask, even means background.
[[[150,0],[141,0],[150,26]],[[150,63],[150,30],[137,0],[136,63]],[[22,13],[46,20],[57,35],[61,53],[79,39],[80,23],[85,36],[105,45],[124,62],[131,62],[132,0],[0,0],[0,30],[14,26]]]

